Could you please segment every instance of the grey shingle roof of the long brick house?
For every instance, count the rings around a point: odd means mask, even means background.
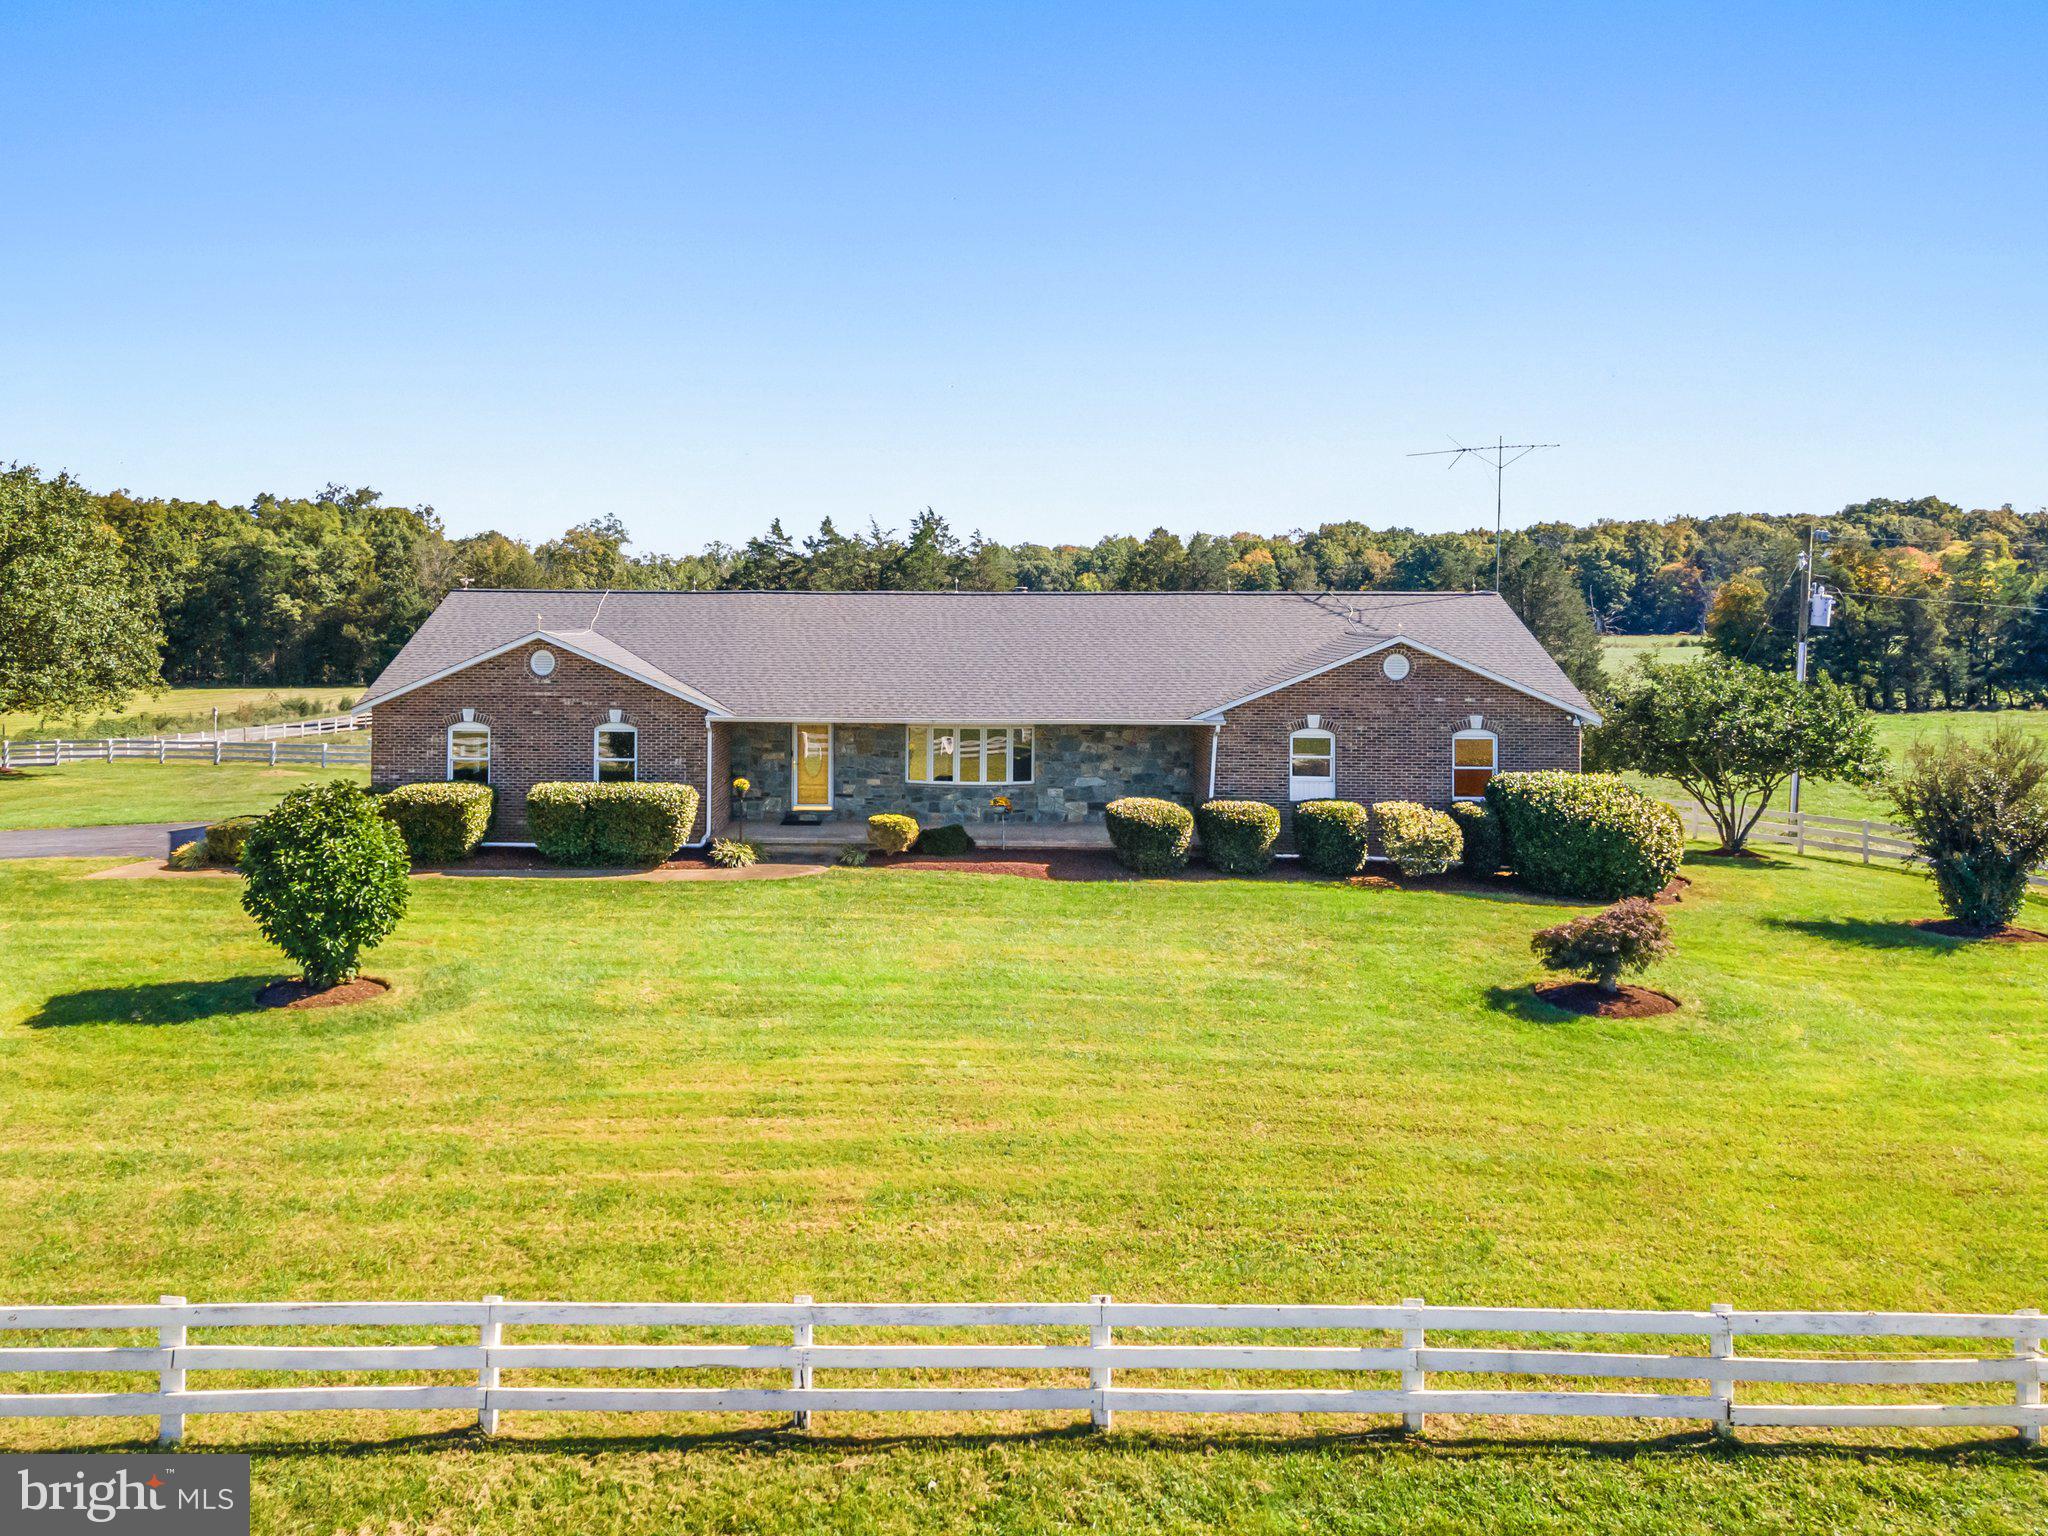
[[[535,631],[741,719],[1184,721],[1395,635],[1593,713],[1493,592],[451,592],[365,702]]]

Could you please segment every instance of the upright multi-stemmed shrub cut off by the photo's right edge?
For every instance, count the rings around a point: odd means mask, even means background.
[[[2005,928],[2048,860],[2048,748],[2011,725],[1980,741],[1950,731],[1907,748],[1888,791],[1948,915]]]

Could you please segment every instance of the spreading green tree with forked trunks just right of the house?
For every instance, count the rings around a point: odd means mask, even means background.
[[[1741,852],[1794,772],[1874,784],[1884,762],[1876,725],[1841,684],[1724,657],[1681,666],[1645,657],[1608,692],[1602,715],[1585,743],[1587,768],[1675,780],[1726,854]]]

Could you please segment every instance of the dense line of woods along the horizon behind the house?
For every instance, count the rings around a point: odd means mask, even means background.
[[[82,532],[57,535],[70,518]],[[1815,670],[1876,709],[2048,698],[2048,510],[1874,500],[1825,516],[1602,518],[1509,532],[1499,590],[1581,686],[1604,684],[1599,631],[1706,633],[1735,657],[1784,664],[1796,561],[1815,524],[1839,592]],[[12,532],[10,532],[12,528]],[[434,604],[475,588],[674,590],[1473,590],[1495,586],[1493,532],[1325,522],[1288,532],[1112,535],[1004,545],[926,508],[897,530],[780,520],[741,545],[631,549],[616,516],[528,543],[451,537],[428,506],[369,487],[246,504],[92,492],[33,467],[0,471],[6,553],[70,549],[104,600],[121,594],[166,682],[350,684],[377,674]],[[86,553],[90,551],[94,553]],[[49,561],[45,559],[45,565]],[[133,639],[133,637],[129,637]],[[49,649],[51,637],[39,643]]]

